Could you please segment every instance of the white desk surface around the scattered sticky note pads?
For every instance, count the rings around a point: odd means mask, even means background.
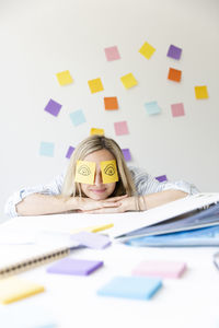
[[[103,221],[101,215],[80,219],[74,214],[18,218],[3,223],[0,231],[70,231],[76,226],[95,225]],[[0,245],[0,257],[9,256],[12,251],[19,254],[26,250],[30,254],[31,247],[35,246]],[[207,247],[135,248],[117,243],[103,250],[78,249],[71,257],[101,259],[104,267],[88,277],[49,274],[46,273],[47,266],[21,273],[22,278],[42,283],[46,292],[18,303],[39,304],[47,308],[61,328],[219,327],[219,271],[212,263],[212,255],[217,250]],[[150,301],[96,295],[96,290],[113,277],[130,276],[134,267],[145,259],[181,260],[187,263],[188,269],[180,279],[164,279],[163,288]],[[13,308],[16,303],[0,305],[1,308],[3,306]]]

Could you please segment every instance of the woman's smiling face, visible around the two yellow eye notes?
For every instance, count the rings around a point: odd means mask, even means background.
[[[114,155],[106,149],[93,152],[84,157],[84,161],[94,162],[96,164],[96,171],[94,176],[94,184],[87,185],[81,184],[81,189],[83,194],[94,200],[101,200],[108,198],[115,187],[116,183],[103,184],[102,173],[101,173],[101,162],[115,160]]]

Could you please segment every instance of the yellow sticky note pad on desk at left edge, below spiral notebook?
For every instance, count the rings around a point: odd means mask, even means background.
[[[44,286],[14,277],[0,280],[0,302],[9,304],[44,292]]]

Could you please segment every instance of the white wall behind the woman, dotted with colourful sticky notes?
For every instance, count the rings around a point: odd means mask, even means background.
[[[60,173],[68,145],[91,127],[129,148],[131,164],[152,175],[218,191],[218,16],[217,0],[1,1],[1,212],[14,190]],[[146,40],[157,49],[150,60],[138,52]],[[166,57],[170,44],[183,48],[180,61]],[[122,59],[107,62],[104,48],[114,45]],[[168,81],[170,67],[183,71],[181,83]],[[74,83],[61,87],[55,74],[67,69]],[[139,84],[125,90],[119,78],[128,72]],[[91,94],[88,80],[99,77],[105,90]],[[197,101],[195,85],[207,85],[209,99]],[[119,110],[105,112],[104,96],[117,96]],[[62,104],[57,118],[44,112],[49,98]],[[149,101],[161,115],[146,114]],[[173,118],[170,105],[181,102],[186,115]],[[79,108],[87,124],[74,128],[69,113]],[[115,136],[119,120],[128,136]],[[41,141],[55,142],[54,157],[39,156]]]

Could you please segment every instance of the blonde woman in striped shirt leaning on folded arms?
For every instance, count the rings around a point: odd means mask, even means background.
[[[118,181],[103,184],[101,163],[116,161]],[[78,161],[95,163],[93,184],[76,181]],[[91,136],[76,148],[67,173],[50,184],[14,192],[5,204],[9,216],[62,212],[119,213],[145,211],[197,194],[186,181],[159,183],[143,169],[127,167],[119,145],[110,138]]]

